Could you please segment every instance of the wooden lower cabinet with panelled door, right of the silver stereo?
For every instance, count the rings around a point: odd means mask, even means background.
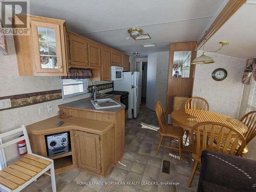
[[[75,131],[77,167],[104,176],[114,164],[114,130],[97,135]]]

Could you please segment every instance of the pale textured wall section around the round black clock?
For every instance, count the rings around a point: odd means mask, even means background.
[[[198,55],[202,52],[199,51]],[[210,105],[210,110],[238,118],[240,103],[243,93],[241,78],[245,66],[245,60],[206,53],[216,62],[209,65],[197,65],[194,79],[193,96],[205,98]],[[211,73],[217,68],[227,70],[227,78],[216,81],[211,78]]]

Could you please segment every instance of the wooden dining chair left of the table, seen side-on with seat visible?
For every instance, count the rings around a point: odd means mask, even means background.
[[[156,114],[157,114],[157,119],[159,123],[159,134],[160,134],[160,141],[158,143],[156,154],[159,153],[160,146],[163,146],[163,147],[171,148],[172,150],[178,150],[180,160],[181,160],[182,137],[184,135],[184,130],[179,126],[172,126],[167,123],[163,105],[160,101],[156,102]],[[162,141],[164,137],[178,139],[179,147],[163,145]]]

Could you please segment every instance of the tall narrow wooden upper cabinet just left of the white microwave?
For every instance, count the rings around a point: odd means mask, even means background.
[[[102,80],[111,80],[111,49],[101,47],[101,76]]]

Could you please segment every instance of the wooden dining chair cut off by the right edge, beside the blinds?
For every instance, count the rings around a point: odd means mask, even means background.
[[[245,144],[248,145],[248,143],[256,136],[256,111],[251,111],[245,114],[240,121],[248,127],[247,132],[244,134]]]

